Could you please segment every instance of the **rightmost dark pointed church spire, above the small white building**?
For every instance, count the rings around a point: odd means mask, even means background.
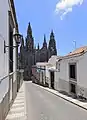
[[[50,34],[50,41],[49,41],[49,46],[48,46],[48,59],[52,55],[57,55],[56,41],[55,41],[53,30],[51,31],[51,34]]]

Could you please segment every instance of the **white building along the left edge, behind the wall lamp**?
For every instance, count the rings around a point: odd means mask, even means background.
[[[18,24],[13,0],[0,0],[0,120],[4,120],[17,93]]]

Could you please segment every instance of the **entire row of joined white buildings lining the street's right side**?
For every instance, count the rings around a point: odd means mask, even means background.
[[[77,48],[66,56],[52,56],[48,62],[34,67],[36,83],[77,98],[87,100],[87,46]],[[38,81],[38,82],[37,82]]]

